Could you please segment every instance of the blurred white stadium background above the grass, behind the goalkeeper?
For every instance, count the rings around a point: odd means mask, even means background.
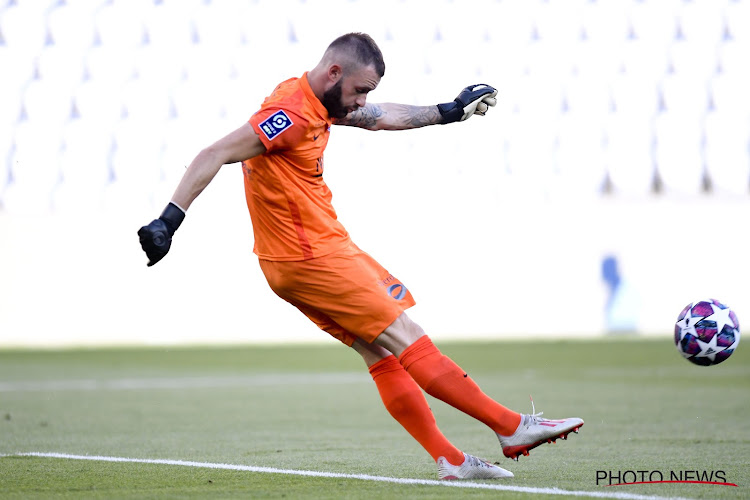
[[[239,165],[157,266],[136,231],[350,31],[385,56],[372,102],[499,89],[326,151],[431,336],[666,336],[704,297],[742,323],[750,0],[0,0],[0,347],[330,341],[265,283]]]

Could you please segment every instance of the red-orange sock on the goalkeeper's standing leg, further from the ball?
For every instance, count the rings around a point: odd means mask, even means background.
[[[445,457],[453,465],[463,463],[464,454],[440,432],[422,390],[395,356],[388,356],[372,365],[370,375],[388,413],[435,461]]]

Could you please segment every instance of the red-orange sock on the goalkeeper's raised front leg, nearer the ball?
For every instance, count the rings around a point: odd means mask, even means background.
[[[399,362],[427,394],[476,418],[493,431],[510,436],[518,428],[521,415],[483,393],[427,335],[407,347]]]

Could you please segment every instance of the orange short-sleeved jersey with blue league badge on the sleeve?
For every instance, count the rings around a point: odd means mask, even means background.
[[[249,120],[266,152],[242,163],[245,196],[259,258],[300,261],[346,247],[323,180],[331,118],[307,73],[281,84]]]

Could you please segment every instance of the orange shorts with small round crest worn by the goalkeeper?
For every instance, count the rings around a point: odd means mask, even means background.
[[[271,289],[344,344],[372,343],[415,304],[409,290],[356,245],[317,259],[260,260]]]

